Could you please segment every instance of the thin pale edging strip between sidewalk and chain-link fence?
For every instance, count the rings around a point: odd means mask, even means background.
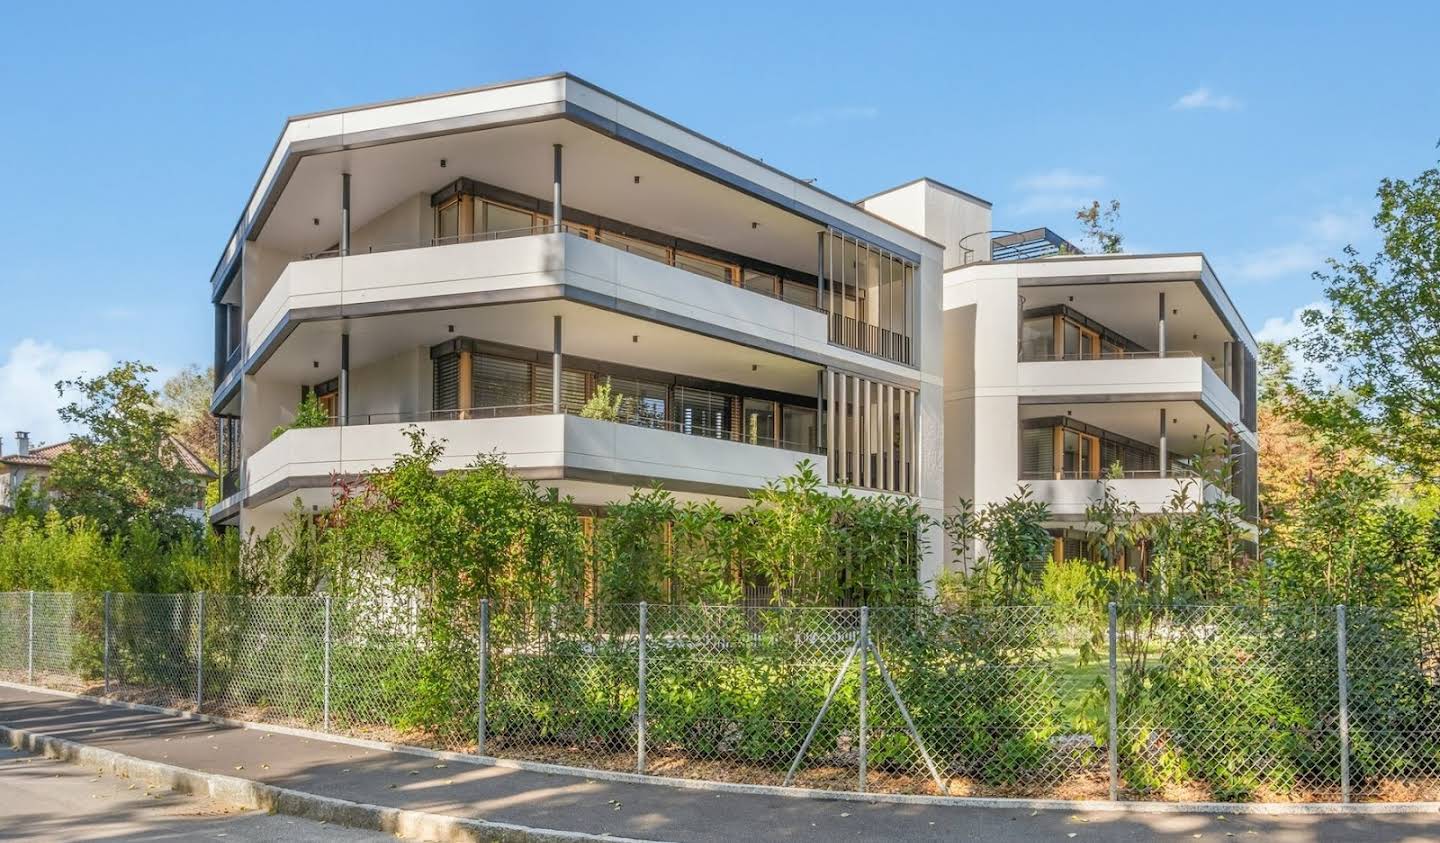
[[[184,709],[167,709],[145,703],[132,703],[107,697],[72,693],[65,690],[49,690],[16,682],[0,680],[0,687],[12,687],[26,693],[39,693],[78,699],[102,706],[121,708],[130,710],[150,712],[170,718],[203,721],[220,726],[238,729],[253,729],[258,732],[274,732],[308,738],[312,741],[328,741],[361,749],[382,752],[399,752],[420,758],[435,758],[438,761],[455,761],[475,767],[503,767],[507,770],[523,770],[527,772],[544,772],[550,775],[566,775],[570,778],[588,778],[598,781],[618,781],[625,784],[648,784],[671,787],[677,790],[700,790],[708,793],[730,793],[740,795],[768,795],[785,798],[808,798],[845,803],[868,804],[901,804],[901,806],[945,806],[971,808],[1009,808],[1009,810],[1040,810],[1040,811],[1071,811],[1097,814],[1256,814],[1256,816],[1319,816],[1319,814],[1440,814],[1440,801],[1420,803],[1158,803],[1158,801],[1109,801],[1109,800],[1056,800],[1056,798],[1021,798],[1021,797],[950,797],[950,795],[920,795],[894,793],[858,793],[844,790],[818,790],[804,787],[778,787],[769,784],[736,784],[729,781],[711,781],[703,778],[674,778],[665,775],[649,775],[641,772],[619,772],[612,770],[592,770],[588,767],[566,767],[562,764],[543,764],[539,761],[517,761],[511,758],[494,758],[490,755],[471,755],[467,752],[451,752],[445,749],[426,749],[409,744],[389,744],[384,741],[370,741],[366,738],[350,738],[333,732],[317,732],[294,726],[274,723],[259,723],[255,721],[235,721],[217,715],[202,715]],[[0,735],[6,732],[0,725]],[[268,785],[266,785],[268,787]],[[317,797],[318,798],[318,797]],[[603,837],[605,840],[619,840],[619,837]]]

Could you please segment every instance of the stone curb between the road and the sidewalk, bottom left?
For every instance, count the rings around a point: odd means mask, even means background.
[[[177,793],[204,795],[240,808],[317,820],[350,829],[384,831],[412,840],[435,840],[436,843],[580,843],[592,840],[605,840],[609,843],[658,843],[635,837],[531,829],[514,823],[353,803],[287,787],[262,784],[235,775],[200,772],[173,764],[145,761],[112,749],[88,746],[63,738],[3,725],[0,725],[0,739],[14,749],[89,767],[118,778],[167,787]]]

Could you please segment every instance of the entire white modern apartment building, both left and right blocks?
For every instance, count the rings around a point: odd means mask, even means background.
[[[832,196],[564,73],[291,118],[210,281],[212,522],[328,507],[415,424],[442,470],[503,452],[598,510],[740,506],[802,460],[936,520],[1025,483],[1057,555],[1115,461],[1146,509],[1253,500],[1192,476],[1254,454],[1254,340],[1204,258],[1032,233],[930,179]],[[291,429],[308,392],[331,424]]]

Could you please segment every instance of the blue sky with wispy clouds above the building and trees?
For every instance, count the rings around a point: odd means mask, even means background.
[[[1070,235],[1116,197],[1130,251],[1207,252],[1266,336],[1374,246],[1378,180],[1440,157],[1434,3],[1018,9],[14,4],[6,450],[60,435],[60,376],[210,359],[206,281],[288,114],[570,71],[841,196],[926,174]]]

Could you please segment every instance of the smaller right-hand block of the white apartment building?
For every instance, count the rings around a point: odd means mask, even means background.
[[[1054,558],[1084,552],[1102,491],[1159,513],[1228,496],[1257,519],[1257,346],[1205,257],[1083,255],[922,179],[864,208],[946,244],[945,494],[1027,486]]]

